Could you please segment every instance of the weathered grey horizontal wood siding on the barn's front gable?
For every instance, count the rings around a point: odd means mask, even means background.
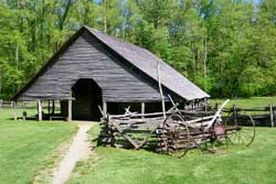
[[[86,31],[18,100],[68,99],[72,86],[79,78],[93,78],[106,101],[160,100],[157,83],[123,64]]]

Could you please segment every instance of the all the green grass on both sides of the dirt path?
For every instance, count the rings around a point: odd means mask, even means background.
[[[223,100],[211,100],[212,104]],[[231,100],[238,107],[276,104],[276,97]],[[22,115],[22,110],[18,110]],[[34,115],[29,110],[28,115]],[[0,109],[0,184],[28,184],[57,160],[54,150],[70,140],[76,127],[65,122],[9,120],[10,109]],[[98,133],[98,126],[91,131]],[[95,148],[88,160],[77,163],[67,184],[274,184],[276,181],[276,129],[257,128],[251,148],[231,147],[214,155],[198,150],[183,159],[145,150]]]

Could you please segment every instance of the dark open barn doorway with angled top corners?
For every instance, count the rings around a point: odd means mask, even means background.
[[[81,78],[72,88],[73,119],[99,120],[102,117],[98,106],[102,107],[102,89],[88,78]]]

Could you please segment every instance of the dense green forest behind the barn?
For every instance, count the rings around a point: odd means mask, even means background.
[[[151,51],[212,97],[276,95],[275,0],[0,0],[0,98],[84,24]]]

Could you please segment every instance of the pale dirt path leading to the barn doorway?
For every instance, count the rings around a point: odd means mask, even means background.
[[[73,139],[68,151],[65,153],[59,166],[54,170],[52,184],[64,184],[75,167],[77,161],[86,159],[92,152],[87,131],[94,125],[93,122],[76,122],[78,132]]]

